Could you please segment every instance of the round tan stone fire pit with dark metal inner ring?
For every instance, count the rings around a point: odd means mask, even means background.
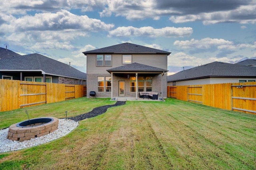
[[[41,117],[30,119],[9,127],[7,138],[10,140],[30,140],[44,136],[58,128],[59,119],[56,117]]]

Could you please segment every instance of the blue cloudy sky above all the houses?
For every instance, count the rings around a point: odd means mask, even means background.
[[[256,59],[256,0],[1,0],[0,47],[86,73],[83,51],[124,42],[169,51],[168,75]]]

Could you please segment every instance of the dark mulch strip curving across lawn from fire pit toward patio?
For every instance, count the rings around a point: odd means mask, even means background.
[[[102,113],[105,113],[107,111],[107,109],[110,107],[124,105],[125,103],[126,103],[126,101],[117,101],[116,104],[114,104],[114,105],[106,105],[106,106],[96,107],[88,113],[84,113],[82,115],[78,115],[75,117],[69,117],[68,119],[71,119],[74,121],[82,121],[87,118],[96,117],[98,115],[101,115]]]

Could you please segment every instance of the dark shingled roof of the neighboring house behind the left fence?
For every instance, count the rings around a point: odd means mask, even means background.
[[[86,80],[86,73],[38,53],[1,59],[0,71],[42,71],[42,74]]]

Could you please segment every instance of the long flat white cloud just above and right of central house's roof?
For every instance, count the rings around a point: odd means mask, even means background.
[[[199,48],[199,49],[209,49],[212,46],[219,46],[219,45],[232,45],[233,42],[224,40],[224,39],[212,39],[212,38],[203,38],[201,40],[195,40],[194,38],[186,41],[175,41],[174,45],[180,48]]]

